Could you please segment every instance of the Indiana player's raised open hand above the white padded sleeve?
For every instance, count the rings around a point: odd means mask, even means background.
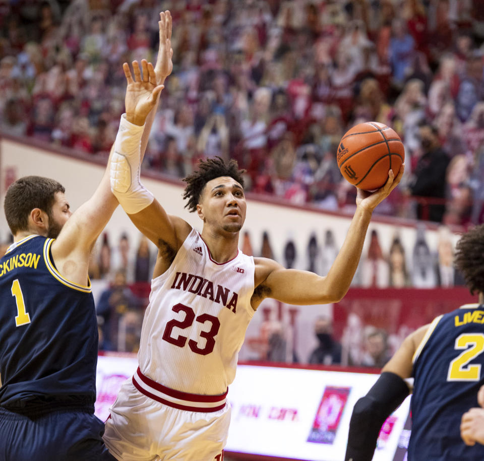
[[[157,84],[151,62],[147,62],[146,59],[141,61],[143,76],[138,61],[133,61],[132,65],[134,78],[131,75],[129,64],[127,62],[123,64],[126,81],[128,82],[125,97],[126,119],[136,125],[143,125],[164,86]]]

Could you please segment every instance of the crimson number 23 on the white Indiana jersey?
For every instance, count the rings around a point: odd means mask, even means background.
[[[215,336],[218,333],[218,329],[220,328],[220,320],[217,317],[214,317],[213,315],[209,315],[209,314],[202,314],[202,315],[199,315],[197,318],[195,318],[195,312],[193,311],[193,309],[181,303],[175,304],[171,308],[171,310],[176,313],[180,311],[185,312],[185,318],[183,320],[173,319],[167,322],[165,331],[163,332],[163,339],[175,346],[184,347],[188,339],[186,336],[179,335],[177,338],[173,338],[171,336],[171,332],[173,331],[173,328],[175,326],[177,326],[178,328],[181,328],[181,330],[185,330],[185,328],[192,326],[194,320],[200,323],[210,322],[212,324],[212,326],[210,327],[210,330],[208,332],[204,332],[204,331],[200,332],[200,336],[207,340],[203,348],[200,348],[198,346],[197,341],[190,340],[188,342],[188,346],[196,354],[200,354],[200,355],[210,354],[210,352],[213,351],[213,348],[215,346]]]

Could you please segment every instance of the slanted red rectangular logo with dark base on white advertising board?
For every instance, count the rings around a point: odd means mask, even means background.
[[[350,387],[325,387],[308,442],[334,442],[349,391]]]

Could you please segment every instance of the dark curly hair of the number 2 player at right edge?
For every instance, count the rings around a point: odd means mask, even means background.
[[[484,224],[462,235],[455,247],[454,264],[471,294],[484,293]]]

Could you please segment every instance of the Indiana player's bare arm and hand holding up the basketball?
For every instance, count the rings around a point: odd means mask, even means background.
[[[270,259],[257,258],[256,290],[253,307],[263,298],[275,298],[287,304],[328,304],[340,301],[348,291],[353,279],[361,250],[365,242],[373,210],[397,186],[403,175],[404,165],[394,178],[390,170],[386,184],[370,193],[357,191],[356,211],[348,233],[326,277],[312,272],[285,269]]]

